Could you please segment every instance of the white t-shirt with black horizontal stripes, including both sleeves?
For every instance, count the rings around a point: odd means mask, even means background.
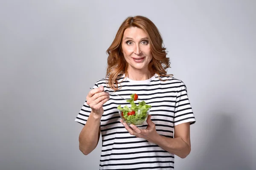
[[[195,123],[195,117],[187,96],[185,84],[174,77],[160,77],[155,74],[151,79],[134,81],[124,75],[118,81],[122,88],[116,94],[130,98],[131,94],[138,94],[137,102],[145,101],[151,105],[151,120],[155,123],[157,133],[173,138],[174,126],[181,123]],[[107,88],[105,79],[96,82],[93,88],[100,85],[105,91],[113,92]],[[103,105],[104,113],[100,128],[102,135],[102,152],[100,170],[169,170],[174,168],[174,154],[163,150],[158,145],[143,138],[130,135],[119,122],[121,119],[117,106],[129,106],[124,99],[110,94],[110,99]],[[85,102],[75,121],[86,124],[91,112]],[[145,129],[145,125],[140,129]]]

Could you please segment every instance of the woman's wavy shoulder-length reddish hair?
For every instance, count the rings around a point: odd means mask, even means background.
[[[169,58],[166,57],[166,48],[163,46],[163,39],[154,23],[147,17],[135,16],[127,17],[119,27],[116,36],[106,51],[108,54],[108,66],[106,73],[106,83],[109,88],[117,91],[119,82],[117,79],[120,75],[128,74],[128,63],[122,54],[122,38],[125,29],[130,27],[137,27],[148,34],[150,50],[152,53],[152,60],[148,64],[148,70],[159,76],[173,76],[167,74],[167,68],[170,68]],[[160,78],[160,77],[159,77]]]

